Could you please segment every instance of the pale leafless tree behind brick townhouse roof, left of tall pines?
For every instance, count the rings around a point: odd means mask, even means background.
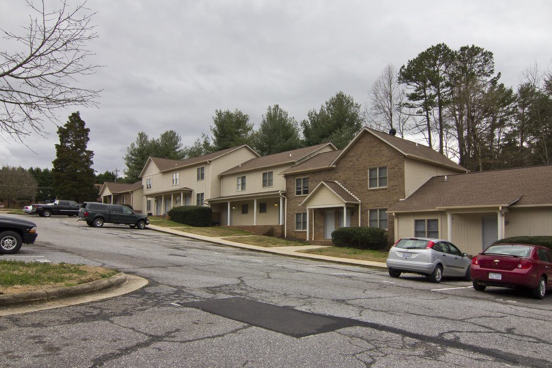
[[[405,88],[397,81],[398,72],[388,64],[369,92],[369,104],[364,113],[369,126],[387,131],[395,129],[401,137],[410,131],[410,115],[406,114]]]

